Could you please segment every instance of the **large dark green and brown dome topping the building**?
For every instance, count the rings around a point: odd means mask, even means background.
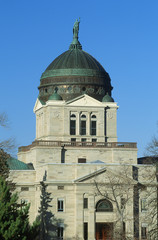
[[[82,94],[99,101],[106,92],[111,96],[109,74],[94,57],[82,50],[78,32],[74,33],[69,50],[55,58],[42,74],[38,87],[40,99],[47,101],[56,87],[65,101]]]

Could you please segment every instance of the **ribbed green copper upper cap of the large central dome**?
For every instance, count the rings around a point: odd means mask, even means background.
[[[109,75],[101,64],[90,54],[80,49],[68,50],[59,55],[42,74],[41,79],[57,76],[100,76],[108,79]]]

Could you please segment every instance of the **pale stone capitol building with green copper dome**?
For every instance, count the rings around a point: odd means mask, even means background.
[[[147,206],[156,194],[155,167],[137,164],[136,143],[117,141],[111,91],[74,25],[69,50],[41,76],[35,141],[19,148],[18,161],[32,168],[10,170],[20,199],[31,204],[30,221],[38,215],[40,182],[48,185],[57,220],[52,239],[147,239],[153,227]]]

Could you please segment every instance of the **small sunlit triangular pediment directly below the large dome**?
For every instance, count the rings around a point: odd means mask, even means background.
[[[84,94],[77,98],[74,98],[66,103],[69,106],[87,106],[87,107],[94,107],[94,106],[102,106],[102,103],[98,100]]]

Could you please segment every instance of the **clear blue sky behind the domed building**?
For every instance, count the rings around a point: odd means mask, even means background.
[[[79,40],[110,74],[118,102],[118,141],[137,142],[138,156],[157,134],[157,0],[0,1],[0,112],[18,146],[35,139],[33,107],[40,76],[72,41]]]

